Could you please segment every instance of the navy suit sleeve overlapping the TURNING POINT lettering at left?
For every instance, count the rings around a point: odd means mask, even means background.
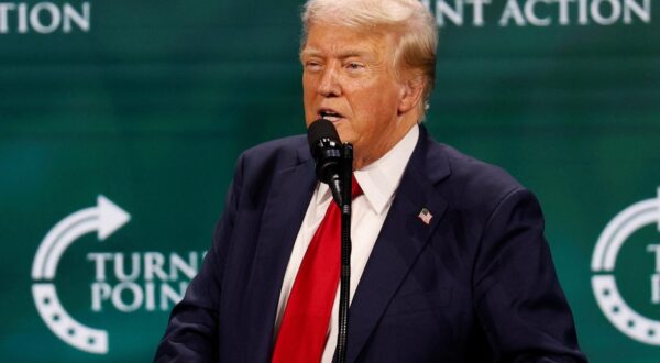
[[[216,224],[213,242],[202,266],[169,316],[154,362],[216,362],[218,306],[222,276],[235,221],[243,182],[243,157],[239,158],[222,217]]]

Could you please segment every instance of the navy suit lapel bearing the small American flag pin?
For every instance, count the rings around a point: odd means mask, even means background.
[[[435,184],[450,173],[435,142],[420,127],[418,144],[410,156],[392,208],[355,292],[350,308],[348,361],[354,362],[376,328],[389,301],[406,278],[440,223],[447,202]],[[419,218],[427,208],[432,218]]]

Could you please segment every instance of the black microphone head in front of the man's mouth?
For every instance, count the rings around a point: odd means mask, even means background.
[[[334,201],[342,206],[341,141],[332,122],[326,119],[314,121],[307,129],[307,142],[316,161],[316,175],[328,184]]]

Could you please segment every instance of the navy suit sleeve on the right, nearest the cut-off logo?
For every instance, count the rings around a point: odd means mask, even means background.
[[[536,197],[519,188],[498,202],[484,229],[475,308],[497,362],[586,362],[543,228]]]

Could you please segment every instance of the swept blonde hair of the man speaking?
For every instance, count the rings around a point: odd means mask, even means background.
[[[421,121],[436,81],[438,31],[433,15],[419,0],[308,0],[301,18],[301,48],[314,23],[355,31],[387,29],[397,34],[394,53],[397,75],[402,69],[413,69],[424,77]]]

